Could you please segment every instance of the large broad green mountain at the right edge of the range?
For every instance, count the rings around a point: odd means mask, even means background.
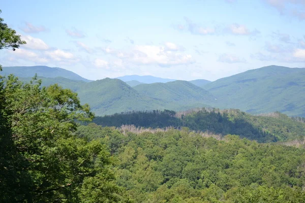
[[[208,83],[221,108],[305,116],[305,69],[266,66]]]

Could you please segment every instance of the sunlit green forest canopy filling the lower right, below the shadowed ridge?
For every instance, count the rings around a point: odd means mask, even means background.
[[[136,202],[304,202],[305,149],[187,129],[135,133],[90,124],[76,134],[108,145],[119,160],[116,182]]]

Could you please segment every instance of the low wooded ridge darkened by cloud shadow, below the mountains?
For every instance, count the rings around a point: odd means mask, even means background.
[[[135,125],[137,127],[189,127],[196,131],[216,134],[237,134],[258,142],[277,142],[305,137],[305,124],[279,112],[253,116],[239,110],[202,109],[190,113],[165,111],[132,112],[96,117],[93,122],[102,126]],[[298,118],[302,120],[301,118]]]

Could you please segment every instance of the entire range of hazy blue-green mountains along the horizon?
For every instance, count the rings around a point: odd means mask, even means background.
[[[110,78],[89,81],[73,72],[47,66],[4,67],[1,74],[11,73],[23,81],[31,80],[29,77],[37,73],[44,86],[58,83],[70,88],[78,93],[81,103],[88,103],[100,116],[197,107],[235,108],[252,114],[280,111],[289,116],[305,116],[305,69],[301,68],[271,65],[214,82],[153,76],[120,77],[126,82]]]

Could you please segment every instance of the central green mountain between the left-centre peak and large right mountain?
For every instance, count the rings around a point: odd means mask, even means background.
[[[172,105],[198,105],[216,102],[215,97],[208,91],[182,80],[142,84],[135,86],[134,89],[143,95],[162,99]]]

